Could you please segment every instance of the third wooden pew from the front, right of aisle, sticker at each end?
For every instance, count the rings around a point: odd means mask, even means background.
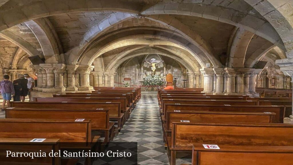
[[[163,136],[171,136],[172,122],[181,120],[189,122],[250,122],[250,123],[272,123],[275,113],[264,112],[214,112],[214,111],[180,111],[168,110],[166,112],[166,123],[163,124]]]

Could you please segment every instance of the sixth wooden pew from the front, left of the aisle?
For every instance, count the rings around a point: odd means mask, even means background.
[[[73,98],[73,97],[77,97],[77,98],[80,98],[80,97],[91,97],[91,98],[100,98],[100,99],[103,99],[103,98],[126,98],[126,107],[127,109],[129,108],[130,109],[130,113],[131,113],[131,104],[130,104],[130,96],[128,95],[107,95],[107,96],[103,96],[103,95],[93,95],[93,94],[72,94],[72,95],[61,95],[61,94],[57,94],[57,95],[53,95],[53,97],[70,97],[70,98]]]

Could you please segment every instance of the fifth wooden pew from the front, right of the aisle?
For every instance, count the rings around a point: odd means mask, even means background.
[[[224,98],[222,98],[224,99]],[[257,105],[257,101],[250,100],[180,100],[180,99],[163,99],[162,100],[162,115],[165,113],[165,104],[207,104],[207,105]]]

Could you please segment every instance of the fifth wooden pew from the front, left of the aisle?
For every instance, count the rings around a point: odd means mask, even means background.
[[[126,119],[129,118],[130,108],[126,107],[126,97],[114,97],[114,98],[96,98],[96,97],[34,97],[35,102],[120,102],[121,113],[125,114]]]

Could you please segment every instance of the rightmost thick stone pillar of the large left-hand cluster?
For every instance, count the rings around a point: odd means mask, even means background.
[[[80,87],[78,90],[93,90],[93,87],[90,86],[90,73],[93,70],[94,66],[91,65],[79,65],[77,72],[80,76]]]

